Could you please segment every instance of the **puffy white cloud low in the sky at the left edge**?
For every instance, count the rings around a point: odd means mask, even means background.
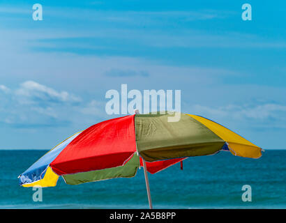
[[[82,115],[80,108],[85,106],[77,95],[34,81],[23,82],[17,89],[1,85],[0,90],[0,122],[13,128],[68,126],[77,120],[75,116]]]

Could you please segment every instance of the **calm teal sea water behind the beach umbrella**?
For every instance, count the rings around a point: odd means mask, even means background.
[[[17,176],[45,151],[0,151],[0,208],[149,208],[143,169],[134,178],[82,185],[20,187]],[[154,208],[286,208],[286,151],[266,151],[258,160],[230,153],[190,157],[158,174],[149,174]],[[252,201],[241,200],[241,187],[252,187]]]

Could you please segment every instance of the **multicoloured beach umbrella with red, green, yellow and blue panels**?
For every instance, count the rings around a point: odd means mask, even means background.
[[[177,113],[178,114],[178,113]],[[239,134],[202,116],[179,113],[134,114],[113,118],[73,134],[40,157],[19,176],[23,187],[53,187],[61,176],[67,184],[130,178],[143,167],[149,207],[148,174],[156,174],[188,157],[229,151],[259,158],[262,149]]]

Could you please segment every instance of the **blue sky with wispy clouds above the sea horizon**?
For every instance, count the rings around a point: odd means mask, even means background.
[[[43,21],[32,20],[33,3]],[[250,3],[253,20],[241,20]],[[286,143],[284,1],[1,1],[2,149],[49,149],[99,121],[106,91],[179,89],[181,111]]]

